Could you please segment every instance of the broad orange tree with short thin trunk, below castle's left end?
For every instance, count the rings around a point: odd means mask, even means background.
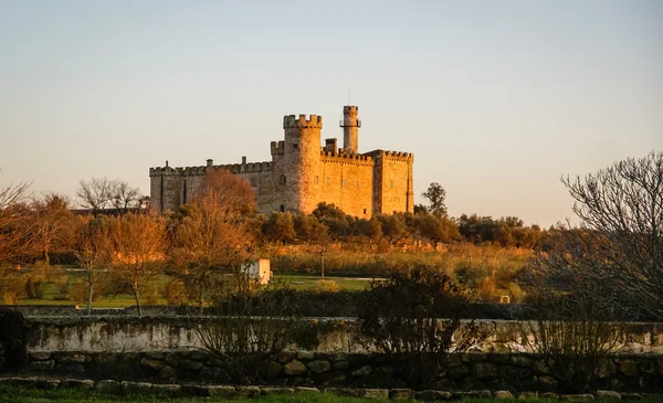
[[[143,315],[140,293],[158,274],[166,252],[164,221],[128,213],[112,221],[113,272],[131,288],[138,315]]]

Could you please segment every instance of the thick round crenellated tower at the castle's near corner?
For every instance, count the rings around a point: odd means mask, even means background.
[[[315,177],[320,165],[320,130],[323,117],[295,115],[283,117],[283,174],[278,179],[282,210],[297,210],[304,214],[316,208]],[[319,180],[319,179],[318,179]]]

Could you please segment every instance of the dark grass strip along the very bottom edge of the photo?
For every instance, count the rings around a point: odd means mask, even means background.
[[[172,402],[172,403],[194,403],[194,402],[233,402],[233,403],[249,403],[249,402],[261,402],[261,403],[386,403],[389,400],[365,400],[357,397],[344,397],[336,396],[330,393],[308,393],[308,394],[295,394],[295,395],[269,395],[256,399],[221,399],[221,397],[166,397],[162,395],[128,395],[117,396],[108,394],[99,394],[93,391],[85,390],[71,390],[71,389],[57,389],[53,391],[33,390],[33,389],[21,389],[14,386],[0,385],[0,402],[15,402],[15,403],[44,403],[44,402],[61,402],[61,403],[80,403],[80,402]],[[464,400],[467,403],[494,403],[492,399],[471,399]],[[518,402],[532,402],[532,403],[552,403],[557,401],[552,400],[518,400]],[[594,402],[610,402],[606,400],[594,400]],[[648,397],[639,400],[641,403],[654,403],[663,402],[657,397]]]

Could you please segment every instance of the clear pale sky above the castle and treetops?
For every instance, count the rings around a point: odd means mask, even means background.
[[[561,174],[663,151],[663,1],[0,0],[0,187],[270,160],[283,115],[341,140],[348,91],[418,194],[548,226]]]

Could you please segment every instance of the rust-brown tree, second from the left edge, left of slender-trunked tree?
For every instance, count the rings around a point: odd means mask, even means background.
[[[32,202],[34,212],[35,246],[41,252],[44,264],[51,265],[50,252],[53,247],[65,246],[71,240],[73,213],[69,198],[57,193],[45,193]]]

